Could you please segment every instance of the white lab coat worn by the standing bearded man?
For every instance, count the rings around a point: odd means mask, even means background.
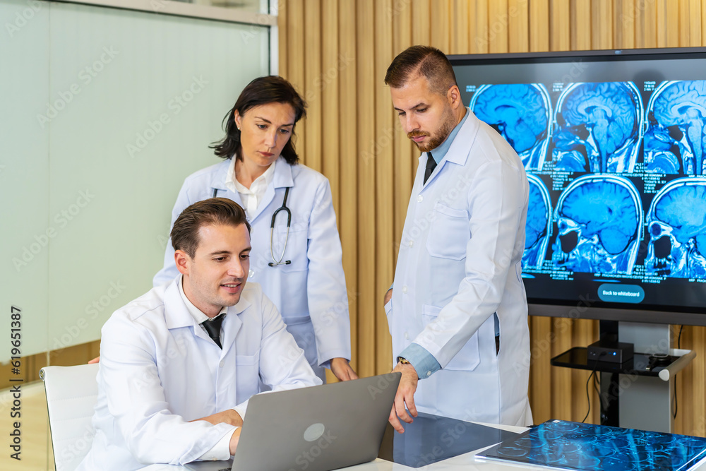
[[[426,153],[420,157],[385,306],[393,358],[416,342],[441,364],[429,378],[418,371],[419,410],[526,425],[530,335],[521,270],[529,186],[513,148],[467,113],[426,185]]]

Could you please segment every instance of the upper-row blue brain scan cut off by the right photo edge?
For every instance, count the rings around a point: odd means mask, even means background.
[[[705,174],[706,81],[662,82],[647,104],[645,169]]]

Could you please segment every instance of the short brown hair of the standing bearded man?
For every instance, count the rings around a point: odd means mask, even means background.
[[[412,46],[397,54],[385,73],[385,85],[402,88],[408,81],[424,76],[433,93],[446,96],[456,85],[456,75],[441,50],[431,46]]]

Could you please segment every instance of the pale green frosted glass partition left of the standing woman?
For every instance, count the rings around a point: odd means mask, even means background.
[[[150,289],[181,182],[218,161],[208,144],[269,53],[254,25],[18,0],[0,19],[7,362],[12,305],[25,356],[100,338]]]

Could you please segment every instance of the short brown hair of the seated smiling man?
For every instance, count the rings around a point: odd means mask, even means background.
[[[245,210],[229,198],[209,198],[193,203],[181,211],[172,227],[172,246],[174,250],[186,252],[189,257],[196,255],[196,248],[201,242],[198,230],[208,225],[239,226],[244,224],[250,232],[250,223]]]

